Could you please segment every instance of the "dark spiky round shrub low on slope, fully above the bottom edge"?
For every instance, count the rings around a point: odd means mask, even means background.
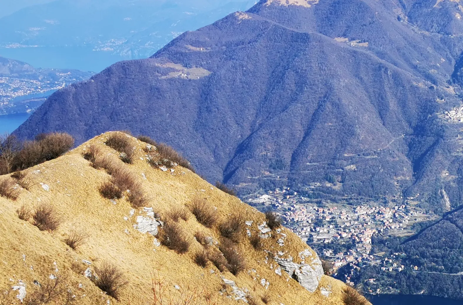
[[[107,261],[100,267],[95,267],[95,271],[98,276],[94,279],[95,285],[119,301],[120,289],[129,283],[125,280],[124,273]]]

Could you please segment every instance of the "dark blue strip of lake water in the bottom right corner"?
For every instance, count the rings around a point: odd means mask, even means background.
[[[369,297],[373,305],[463,305],[462,300],[452,300],[426,295],[382,294]]]

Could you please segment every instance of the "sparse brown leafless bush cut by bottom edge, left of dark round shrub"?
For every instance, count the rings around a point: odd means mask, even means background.
[[[60,274],[55,275],[52,280],[41,280],[40,285],[35,286],[35,290],[33,292],[28,292],[26,294],[24,304],[74,304],[76,299],[73,298],[73,293],[66,286],[65,282],[66,279],[63,278]]]

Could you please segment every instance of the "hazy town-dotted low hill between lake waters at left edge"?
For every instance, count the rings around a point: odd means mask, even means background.
[[[30,112],[57,89],[93,74],[79,70],[36,69],[30,64],[0,57],[0,115]]]

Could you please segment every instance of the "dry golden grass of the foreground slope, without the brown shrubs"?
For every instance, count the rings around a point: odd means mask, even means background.
[[[250,304],[263,304],[261,297],[269,304],[343,304],[346,286],[323,275],[317,254],[288,229],[270,230],[262,213],[185,168],[151,167],[144,151],[147,144],[128,135],[135,154],[132,164],[123,163],[118,158],[119,153],[104,144],[110,135],[97,136],[58,159],[27,169],[25,177],[20,178],[20,184],[27,190],[17,185],[20,194],[16,200],[0,197],[0,287],[10,292],[4,298],[18,296],[25,304],[45,304],[31,303],[30,298],[37,296],[35,291],[49,288],[47,283],[59,276],[63,284],[54,291],[60,292],[56,297],[59,299],[67,296],[69,290],[71,302],[67,304],[113,304],[116,301],[103,294],[91,277],[85,276],[96,270],[96,276],[101,278],[98,269],[109,263],[123,272],[128,283],[119,291],[121,304],[153,304],[152,279],[158,277],[165,278],[164,304],[169,293],[174,299],[199,296],[196,301],[200,303],[188,304],[217,304],[217,300],[218,304],[236,304],[244,299]],[[100,195],[100,186],[110,175],[103,169],[95,169],[84,159],[82,154],[90,149],[99,149],[100,157],[112,160],[113,175],[116,169],[122,169],[138,180],[147,198],[144,207],[133,207],[124,197],[110,200]],[[0,182],[4,179],[13,178],[1,176]],[[130,198],[135,191],[125,191],[125,197]],[[6,194],[1,187],[0,192]],[[218,221],[210,228],[201,225],[189,210],[198,198],[216,208]],[[58,229],[40,231],[34,226],[37,219],[19,219],[17,209],[36,210],[41,204],[57,211],[61,220]],[[166,234],[166,223],[172,223],[174,218],[169,215],[175,210],[186,210],[187,221],[179,219],[176,222],[190,243],[184,254],[158,242],[163,241],[161,236]],[[219,248],[225,251],[224,247],[230,247],[226,246],[227,240],[221,234],[224,235],[224,224],[234,215],[243,223],[232,238],[238,243],[228,243],[243,257],[244,270],[235,276],[226,269],[220,272],[210,261],[204,268],[195,264],[195,255],[204,249],[219,253]],[[163,229],[153,227],[157,223],[155,216],[160,216],[164,222]],[[156,238],[149,232],[141,233],[139,229],[143,223],[151,225],[150,232],[159,229],[161,233]],[[87,236],[85,243],[75,250],[64,242],[73,230]],[[210,236],[211,245],[204,248],[196,241],[197,232]],[[258,239],[262,243],[260,248],[251,245],[248,234],[261,236]],[[175,239],[179,235],[170,237]],[[284,260],[290,257],[294,259]],[[291,272],[293,275],[283,270],[284,267],[290,270],[291,266],[297,268]],[[194,292],[196,286],[199,290]],[[203,289],[206,291],[199,293]],[[210,298],[203,299],[207,295]],[[0,304],[10,304],[3,302],[0,297]]]

